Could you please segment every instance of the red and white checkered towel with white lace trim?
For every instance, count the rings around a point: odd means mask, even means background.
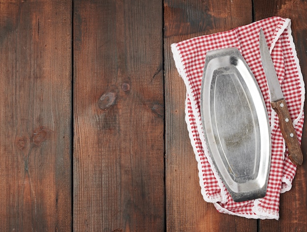
[[[270,104],[259,53],[259,31],[262,28],[294,128],[299,142],[301,142],[305,86],[290,26],[290,19],[272,17],[229,31],[172,44],[176,67],[186,85],[186,123],[198,161],[202,194],[205,201],[213,203],[219,212],[246,218],[278,220],[280,194],[291,189],[296,166],[288,158],[285,142],[279,128],[279,119]],[[232,200],[212,165],[205,144],[200,114],[201,82],[206,52],[229,47],[239,49],[256,78],[267,107],[272,135],[272,160],[266,196],[240,203],[235,203]]]

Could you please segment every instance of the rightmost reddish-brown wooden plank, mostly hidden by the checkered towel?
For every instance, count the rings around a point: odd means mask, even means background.
[[[307,83],[307,2],[297,0],[254,0],[255,20],[271,16],[290,18],[292,35]],[[305,101],[306,109],[306,101]],[[302,138],[303,165],[298,167],[292,189],[281,194],[280,220],[260,221],[261,232],[305,232],[307,228],[307,129],[306,120]]]

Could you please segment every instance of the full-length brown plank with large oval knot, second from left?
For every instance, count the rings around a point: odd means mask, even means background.
[[[164,231],[162,2],[74,3],[74,231]]]

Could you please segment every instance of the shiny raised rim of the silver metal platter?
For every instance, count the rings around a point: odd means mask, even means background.
[[[241,62],[241,64],[243,64],[246,69],[244,70],[244,73],[246,74],[246,76],[242,76],[242,78],[248,86],[248,90],[246,91],[249,91],[251,93],[251,88],[253,90],[251,101],[255,104],[255,107],[256,107],[257,120],[259,122],[259,129],[260,129],[260,145],[261,146],[260,146],[260,161],[259,161],[258,175],[255,180],[249,180],[245,183],[235,182],[234,180],[231,179],[230,174],[227,171],[223,169],[221,170],[220,163],[222,162],[222,164],[224,165],[224,162],[221,160],[217,160],[216,158],[216,157],[220,157],[221,155],[216,155],[217,148],[212,147],[210,143],[208,144],[208,142],[212,140],[210,138],[210,136],[213,133],[212,122],[211,122],[210,117],[205,117],[207,114],[205,114],[204,112],[205,111],[204,104],[207,103],[210,106],[210,93],[209,91],[205,93],[205,90],[208,90],[208,88],[210,89],[210,87],[208,86],[211,85],[212,73],[214,70],[218,68],[225,67],[225,64],[220,64],[220,66],[213,68],[213,71],[211,70],[209,74],[207,72],[208,66],[210,65],[212,66],[212,60],[216,58],[221,59],[221,57],[226,57],[224,59],[226,63],[228,65],[233,65],[233,64],[230,64],[230,59],[229,59],[230,56],[235,56],[236,58],[238,58],[238,61]],[[212,67],[209,67],[209,69],[212,69]],[[211,77],[208,77],[210,73],[211,73]],[[255,95],[255,91],[257,93],[256,95]],[[207,97],[206,100],[204,99],[205,97]],[[270,170],[270,164],[271,164],[271,130],[270,130],[269,118],[268,118],[267,109],[266,109],[266,105],[263,100],[262,93],[260,91],[258,83],[256,82],[256,78],[254,77],[252,71],[250,70],[242,54],[239,52],[237,48],[232,47],[232,48],[212,50],[212,51],[207,52],[206,58],[205,58],[205,67],[204,67],[202,85],[201,85],[201,105],[200,106],[201,106],[201,119],[202,119],[202,124],[203,124],[203,129],[204,129],[204,135],[205,135],[205,143],[207,145],[207,148],[211,156],[211,159],[213,161],[213,164],[216,167],[216,170],[219,176],[221,177],[221,180],[223,181],[227,190],[229,191],[230,196],[233,198],[235,202],[241,202],[241,201],[252,200],[252,199],[264,197],[266,193],[266,189],[267,189],[269,170]],[[261,108],[261,110],[259,110],[259,107]],[[209,125],[211,126],[211,128],[208,128]],[[264,179],[264,180],[259,180],[259,179]],[[259,182],[262,182],[262,184],[260,184]]]

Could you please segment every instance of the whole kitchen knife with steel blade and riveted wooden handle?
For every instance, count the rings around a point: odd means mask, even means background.
[[[281,85],[262,28],[259,35],[259,48],[262,67],[271,95],[271,105],[279,117],[281,133],[288,147],[289,158],[294,164],[301,165],[303,163],[302,150],[281,91]]]

